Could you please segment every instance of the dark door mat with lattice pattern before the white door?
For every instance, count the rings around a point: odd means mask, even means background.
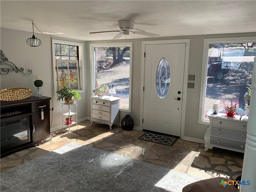
[[[156,133],[146,132],[140,138],[140,140],[145,140],[149,142],[159,143],[167,146],[173,146],[174,143],[178,140],[176,137],[171,137],[167,135],[160,135]]]

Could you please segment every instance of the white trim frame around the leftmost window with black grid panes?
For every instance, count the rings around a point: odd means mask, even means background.
[[[64,41],[64,40],[56,40],[52,39],[52,78],[53,78],[53,88],[54,88],[54,97],[57,96],[57,84],[56,84],[56,59],[55,59],[55,45],[54,44],[66,44],[66,45],[72,45],[72,46],[78,46],[78,62],[79,62],[79,83],[80,83],[80,93],[84,92],[84,44],[78,43],[78,42],[70,42],[70,41]]]

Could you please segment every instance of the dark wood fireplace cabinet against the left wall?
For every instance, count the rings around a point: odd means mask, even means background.
[[[50,97],[0,102],[1,158],[50,141]]]

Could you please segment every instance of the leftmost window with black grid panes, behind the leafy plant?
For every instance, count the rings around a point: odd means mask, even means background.
[[[83,44],[52,40],[54,47],[54,92],[67,87],[76,90],[84,90],[82,74],[82,50]],[[82,76],[82,78],[81,78]]]

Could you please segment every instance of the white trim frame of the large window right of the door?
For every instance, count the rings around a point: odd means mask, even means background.
[[[234,38],[209,38],[204,39],[203,48],[203,62],[202,62],[202,74],[201,74],[201,88],[200,88],[200,103],[199,103],[199,124],[210,124],[210,120],[204,119],[204,103],[206,97],[206,81],[207,81],[207,66],[208,66],[208,52],[209,44],[217,43],[242,43],[242,42],[256,42],[255,37],[234,37]]]

